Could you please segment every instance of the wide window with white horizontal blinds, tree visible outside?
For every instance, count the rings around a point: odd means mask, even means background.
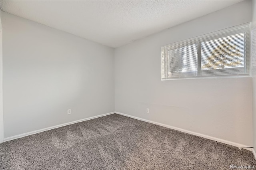
[[[162,80],[249,75],[249,24],[162,47]]]

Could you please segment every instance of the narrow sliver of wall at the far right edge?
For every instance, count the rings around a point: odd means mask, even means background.
[[[253,147],[256,148],[256,1],[252,1],[252,120]]]

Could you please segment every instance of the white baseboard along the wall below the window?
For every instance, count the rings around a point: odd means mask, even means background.
[[[181,132],[185,132],[185,133],[188,133],[188,134],[193,134],[195,136],[200,136],[200,137],[207,138],[207,139],[210,139],[210,140],[215,140],[217,142],[221,142],[221,143],[224,143],[224,144],[229,144],[229,145],[232,145],[232,146],[236,146],[238,148],[240,148],[240,147],[241,148],[248,147],[248,146],[246,146],[244,144],[239,144],[239,143],[236,143],[236,142],[231,142],[231,141],[228,141],[228,140],[224,140],[224,139],[208,136],[208,135],[197,133],[197,132],[192,132],[190,130],[185,130],[185,129],[182,129],[182,128],[173,127],[173,126],[170,126],[170,125],[165,125],[165,124],[154,122],[154,121],[149,121],[149,120],[142,119],[142,118],[139,118],[139,117],[127,115],[127,114],[124,114],[124,113],[120,113],[120,112],[115,112],[115,113],[118,114],[118,115],[123,115],[123,116],[126,116],[126,117],[130,117],[130,118],[137,119],[137,120],[144,121],[144,122],[148,122],[148,123],[153,123],[155,125],[171,128],[171,129],[178,130],[178,131],[181,131]],[[251,150],[251,148],[244,148],[244,149]],[[255,155],[254,155],[254,157],[255,157]]]

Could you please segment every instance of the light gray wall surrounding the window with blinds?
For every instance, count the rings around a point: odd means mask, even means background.
[[[251,9],[240,2],[116,48],[115,111],[252,146],[251,77],[161,81],[162,45],[250,22]]]

